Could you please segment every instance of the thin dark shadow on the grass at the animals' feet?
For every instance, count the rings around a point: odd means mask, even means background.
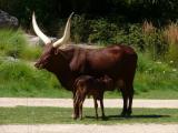
[[[129,119],[161,119],[161,117],[170,117],[170,115],[157,115],[157,114],[148,114],[148,115],[131,115],[131,116],[121,116],[121,115],[107,115],[103,117],[103,121],[108,120],[129,120]],[[86,119],[96,119],[96,116],[87,116]],[[99,117],[101,119],[101,117]]]

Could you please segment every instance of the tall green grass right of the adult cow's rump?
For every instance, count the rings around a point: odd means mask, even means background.
[[[155,90],[178,91],[178,71],[160,61],[152,61],[148,54],[139,54],[135,86],[137,93]],[[172,92],[171,92],[172,93]],[[168,99],[168,96],[167,96]]]

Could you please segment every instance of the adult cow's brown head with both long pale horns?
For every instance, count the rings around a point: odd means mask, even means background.
[[[61,39],[59,39],[56,42],[52,42],[50,38],[48,38],[38,27],[37,21],[36,21],[36,16],[34,13],[32,14],[32,27],[36,32],[36,34],[46,44],[43,48],[43,53],[34,64],[36,68],[38,69],[49,69],[50,66],[55,65],[55,60],[57,59],[57,52],[58,48],[62,44],[65,44],[69,38],[70,38],[70,21],[73,12],[69,16],[66,28],[65,28],[65,33]]]

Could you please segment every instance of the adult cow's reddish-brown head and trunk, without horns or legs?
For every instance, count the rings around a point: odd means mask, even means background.
[[[55,73],[60,82],[62,81],[63,86],[70,86],[68,90],[72,91],[73,80],[71,78],[75,79],[81,74],[96,78],[107,74],[115,82],[122,79],[132,85],[136,64],[137,54],[130,47],[85,49],[72,45],[60,50],[48,44],[36,66]]]

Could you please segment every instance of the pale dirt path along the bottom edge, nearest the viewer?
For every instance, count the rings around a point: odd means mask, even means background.
[[[178,133],[177,124],[0,125],[0,133]]]

